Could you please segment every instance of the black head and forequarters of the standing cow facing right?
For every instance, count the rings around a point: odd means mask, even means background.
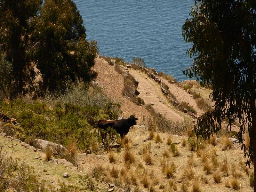
[[[116,123],[113,124],[112,128],[116,130],[118,134],[120,134],[121,139],[124,138],[125,135],[130,131],[130,127],[132,125],[136,125],[136,121],[138,118],[136,118],[134,115],[131,115],[128,119],[121,119],[116,121]]]

